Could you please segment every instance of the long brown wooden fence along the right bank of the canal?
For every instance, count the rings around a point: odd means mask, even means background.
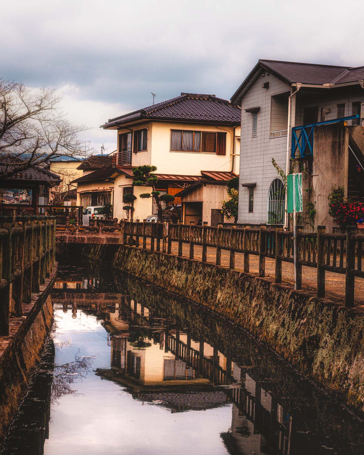
[[[346,234],[329,234],[325,226],[318,226],[317,233],[303,232],[297,226],[297,236],[284,231],[283,226],[261,225],[259,228],[195,226],[172,223],[124,222],[121,226],[123,243],[147,248],[151,239],[153,251],[172,254],[172,242],[178,243],[178,256],[182,256],[182,244],[189,245],[189,258],[194,258],[194,246],[202,247],[202,262],[207,262],[207,247],[216,250],[216,265],[221,265],[221,251],[229,252],[229,267],[235,268],[235,253],[243,253],[243,271],[249,272],[250,255],[258,256],[259,276],[265,276],[265,258],[275,261],[275,282],[282,282],[282,263],[293,263],[293,248],[297,251],[297,289],[302,288],[302,266],[317,270],[317,296],[325,296],[325,272],[345,274],[345,305],[354,306],[354,279],[364,278],[362,255],[364,235],[356,233],[356,227],[348,227]]]

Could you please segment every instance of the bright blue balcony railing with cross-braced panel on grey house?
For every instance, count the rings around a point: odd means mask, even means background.
[[[291,159],[313,157],[313,130],[315,126],[329,125],[360,118],[359,115],[334,118],[332,120],[319,121],[308,125],[295,126],[292,128]]]

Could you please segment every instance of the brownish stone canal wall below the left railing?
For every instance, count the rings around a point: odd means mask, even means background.
[[[40,292],[32,294],[32,301],[22,304],[23,315],[10,317],[9,336],[0,337],[0,447],[53,323],[49,294],[55,278],[56,268],[40,285]]]

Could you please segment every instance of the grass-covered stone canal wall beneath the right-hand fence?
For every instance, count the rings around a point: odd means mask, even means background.
[[[364,411],[364,312],[270,278],[127,246],[83,253],[200,303],[248,329],[300,372]]]

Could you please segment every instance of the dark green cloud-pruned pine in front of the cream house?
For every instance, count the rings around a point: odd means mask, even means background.
[[[146,164],[138,167],[134,167],[133,174],[134,174],[134,182],[133,185],[137,187],[152,187],[152,192],[150,193],[142,193],[140,197],[143,199],[152,197],[157,204],[158,207],[158,221],[162,221],[162,202],[169,202],[174,201],[174,196],[172,194],[162,194],[160,196],[160,192],[156,190],[156,185],[158,182],[157,176],[153,173],[157,171],[157,167],[155,166],[148,166]]]

